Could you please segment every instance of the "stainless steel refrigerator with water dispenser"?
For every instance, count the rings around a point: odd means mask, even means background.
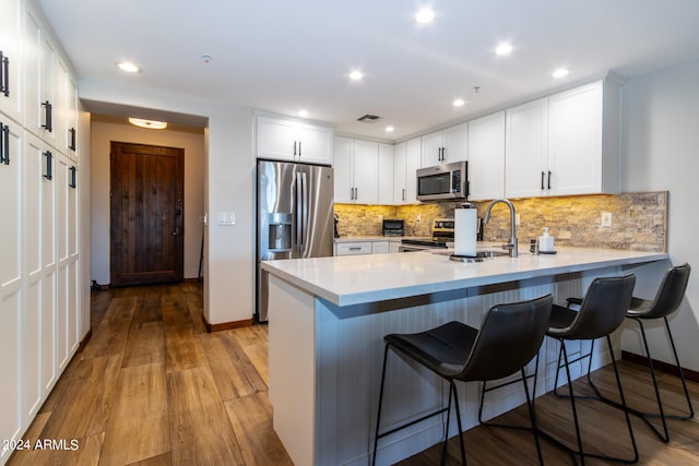
[[[258,160],[257,190],[256,319],[266,322],[269,278],[260,262],[332,255],[333,171]]]

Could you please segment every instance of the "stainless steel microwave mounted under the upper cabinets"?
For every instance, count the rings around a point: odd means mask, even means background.
[[[466,160],[417,170],[418,201],[458,201],[467,196]]]

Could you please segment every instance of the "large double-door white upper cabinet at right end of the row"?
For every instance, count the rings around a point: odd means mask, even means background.
[[[506,195],[618,193],[619,118],[611,80],[508,109]]]

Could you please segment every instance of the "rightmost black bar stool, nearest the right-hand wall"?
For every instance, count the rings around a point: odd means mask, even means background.
[[[641,336],[643,339],[643,347],[645,348],[645,357],[648,358],[648,367],[651,373],[651,378],[653,380],[653,389],[655,391],[655,401],[657,402],[657,410],[659,413],[643,413],[633,408],[628,408],[629,413],[640,417],[655,434],[663,442],[670,442],[670,431],[667,430],[667,421],[666,419],[691,419],[695,416],[694,407],[691,406],[691,399],[689,397],[689,391],[687,390],[687,382],[685,380],[685,373],[682,369],[682,365],[679,363],[679,357],[677,356],[677,349],[675,347],[675,340],[673,339],[673,334],[670,331],[670,323],[667,318],[679,309],[679,304],[685,296],[685,291],[687,290],[687,284],[689,283],[689,273],[691,272],[691,267],[689,264],[677,265],[675,267],[668,268],[665,273],[663,280],[657,289],[657,294],[655,298],[650,299],[640,299],[640,298],[631,298],[631,304],[629,310],[626,312],[627,319],[635,320],[638,322],[639,327],[641,328]],[[569,303],[579,303],[580,300],[576,298],[568,298]],[[682,416],[668,416],[665,415],[663,409],[663,403],[660,397],[660,389],[657,386],[657,379],[655,377],[655,369],[653,368],[653,359],[651,357],[650,349],[648,347],[648,339],[645,337],[645,328],[643,327],[644,320],[653,320],[653,319],[663,319],[665,322],[665,330],[667,332],[667,337],[670,338],[670,346],[673,350],[673,356],[675,357],[675,363],[677,368],[677,372],[679,373],[679,379],[682,380],[682,386],[685,392],[685,398],[687,401],[687,410],[689,414]],[[588,378],[590,378],[590,368],[588,368]],[[592,382],[591,382],[592,384]],[[602,398],[604,402],[618,405],[618,403],[605,398],[602,396],[600,391],[592,384],[595,390],[597,396]],[[661,418],[663,423],[663,432],[657,430],[655,426],[653,426],[649,418]]]

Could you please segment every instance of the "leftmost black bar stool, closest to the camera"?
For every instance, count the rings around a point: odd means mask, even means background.
[[[552,296],[546,295],[530,301],[494,306],[486,313],[479,330],[461,322],[449,322],[426,332],[384,336],[383,369],[371,464],[376,464],[379,439],[447,411],[447,427],[441,452],[441,463],[443,464],[447,453],[452,398],[457,411],[461,461],[465,464],[466,455],[462,435],[461,411],[454,382],[458,380],[463,382],[497,380],[508,377],[518,370],[521,372],[522,383],[524,384],[536,452],[540,463],[543,464],[535,428],[534,406],[530,399],[524,367],[538,354],[538,348],[548,328],[552,302]],[[389,349],[392,349],[399,356],[412,359],[449,382],[449,403],[447,408],[438,409],[417,420],[379,433]]]

